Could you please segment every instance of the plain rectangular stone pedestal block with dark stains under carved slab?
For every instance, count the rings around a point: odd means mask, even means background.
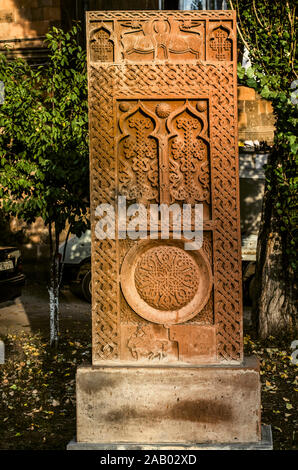
[[[77,370],[78,443],[256,443],[260,409],[259,364],[253,357],[241,365]]]

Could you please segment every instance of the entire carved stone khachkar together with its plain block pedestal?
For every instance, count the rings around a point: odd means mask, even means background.
[[[258,442],[258,364],[243,361],[236,19],[87,14],[92,367],[77,440]],[[106,203],[203,205],[203,245],[96,235]],[[146,222],[147,223],[147,222]],[[149,224],[149,221],[148,221]]]

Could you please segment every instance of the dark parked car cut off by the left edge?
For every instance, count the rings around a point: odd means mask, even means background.
[[[19,297],[24,284],[20,250],[15,247],[0,247],[0,302]]]

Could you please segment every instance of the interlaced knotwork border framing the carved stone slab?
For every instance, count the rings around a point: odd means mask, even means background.
[[[120,47],[116,34],[120,22],[169,15],[179,20],[205,21],[206,27],[209,25],[208,41],[214,29],[229,24],[233,61],[92,62],[89,48],[93,364],[120,358],[119,299],[123,266],[118,242],[95,238],[94,212],[103,202],[116,207],[119,183],[115,111],[117,100],[129,102],[131,97],[140,100],[153,97],[161,102],[181,97],[203,100],[204,106],[206,100],[209,103],[211,215],[205,223],[213,233],[213,259],[207,261],[214,276],[217,361],[239,363],[243,357],[235,14],[231,11],[90,12],[88,34],[104,24],[111,32],[110,40],[116,51]]]

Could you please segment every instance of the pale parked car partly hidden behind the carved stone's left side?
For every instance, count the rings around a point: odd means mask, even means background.
[[[59,246],[61,258],[65,242]],[[64,256],[63,283],[69,284],[75,294],[91,302],[91,231],[81,237],[73,236],[67,242]]]

